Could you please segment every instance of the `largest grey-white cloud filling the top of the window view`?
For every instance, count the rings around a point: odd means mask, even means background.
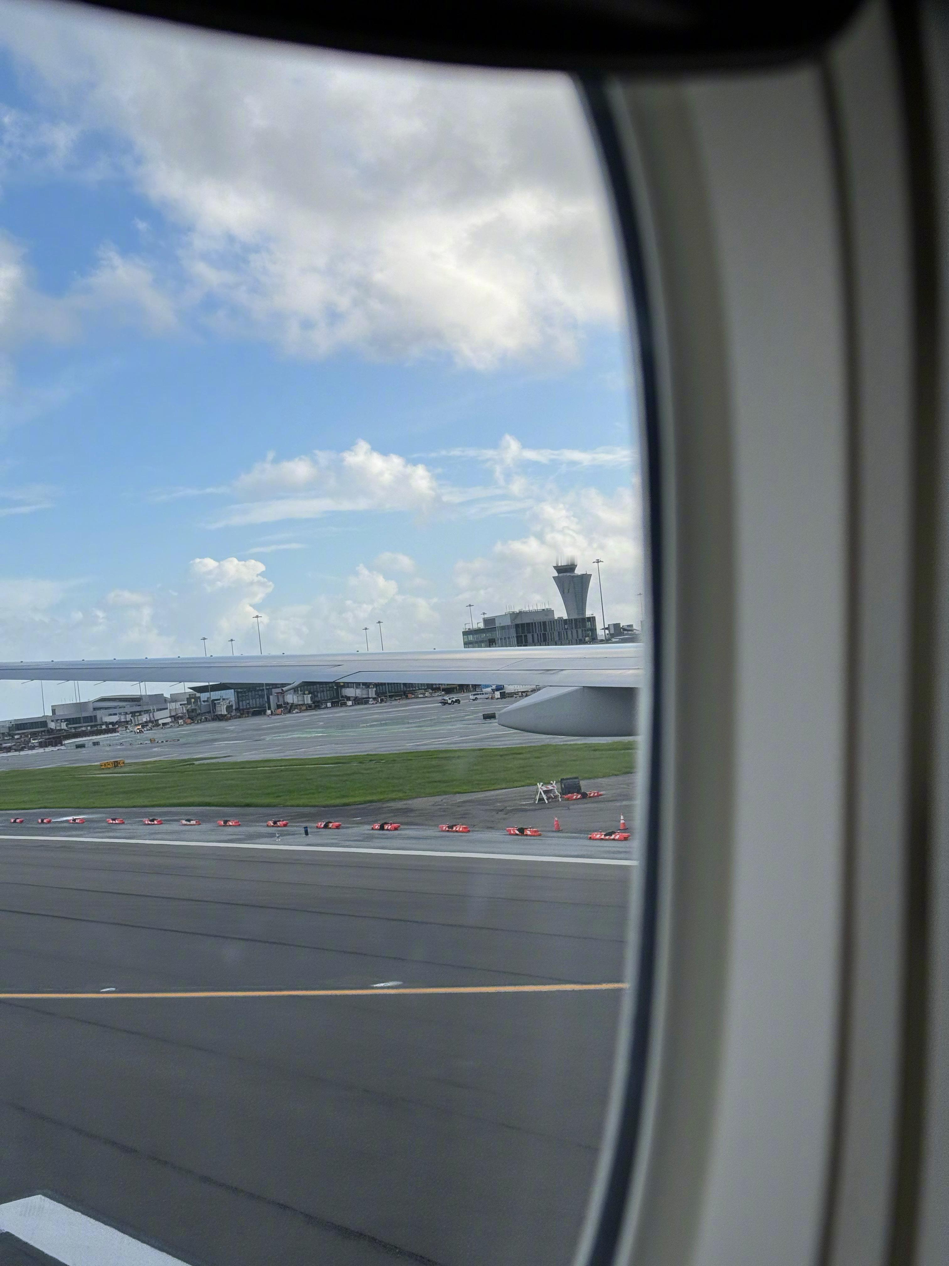
[[[73,152],[76,129],[99,139],[177,229],[178,305],[219,327],[297,356],[491,367],[571,357],[585,327],[619,319],[609,216],[566,77],[57,6],[10,5],[4,19],[44,85],[46,149]],[[27,128],[9,130],[19,153]]]

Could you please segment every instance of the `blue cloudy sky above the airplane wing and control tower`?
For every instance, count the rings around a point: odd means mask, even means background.
[[[628,343],[567,78],[0,0],[0,658],[638,623]]]

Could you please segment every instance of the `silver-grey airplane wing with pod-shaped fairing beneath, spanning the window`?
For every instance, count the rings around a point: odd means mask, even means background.
[[[347,685],[534,686],[539,693],[505,708],[499,720],[542,734],[615,737],[633,733],[643,679],[639,643],[518,647],[490,651],[395,651],[357,655],[240,655],[140,660],[0,662],[6,681],[143,681]]]

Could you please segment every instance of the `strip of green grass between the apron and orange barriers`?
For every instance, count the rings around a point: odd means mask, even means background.
[[[544,743],[286,761],[139,761],[9,770],[0,809],[344,805],[629,774],[634,743]]]

